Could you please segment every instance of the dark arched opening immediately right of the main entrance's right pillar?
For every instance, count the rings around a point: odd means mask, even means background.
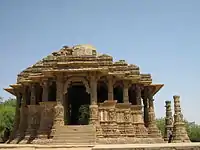
[[[97,84],[97,103],[103,103],[108,99],[108,87],[105,82],[99,81]]]

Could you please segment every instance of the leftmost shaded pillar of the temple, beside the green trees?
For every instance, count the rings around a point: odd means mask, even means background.
[[[14,120],[13,131],[9,138],[9,142],[16,137],[17,131],[19,129],[19,124],[20,124],[20,103],[22,100],[22,95],[19,91],[15,92],[15,93],[16,93],[16,98],[17,98],[16,108],[15,108],[15,120]]]

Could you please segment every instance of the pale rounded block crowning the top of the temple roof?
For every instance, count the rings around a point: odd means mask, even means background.
[[[89,44],[81,44],[81,45],[75,45],[72,47],[72,55],[73,56],[87,56],[87,55],[93,55],[97,56],[96,48]]]

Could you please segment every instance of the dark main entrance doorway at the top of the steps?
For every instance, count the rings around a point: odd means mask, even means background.
[[[90,95],[83,84],[73,83],[65,95],[65,124],[89,124]]]

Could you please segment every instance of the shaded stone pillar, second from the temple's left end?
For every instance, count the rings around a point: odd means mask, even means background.
[[[20,108],[20,123],[19,123],[19,133],[20,137],[25,136],[25,131],[28,127],[28,107],[27,107],[27,93],[26,87],[24,87],[21,108]]]

